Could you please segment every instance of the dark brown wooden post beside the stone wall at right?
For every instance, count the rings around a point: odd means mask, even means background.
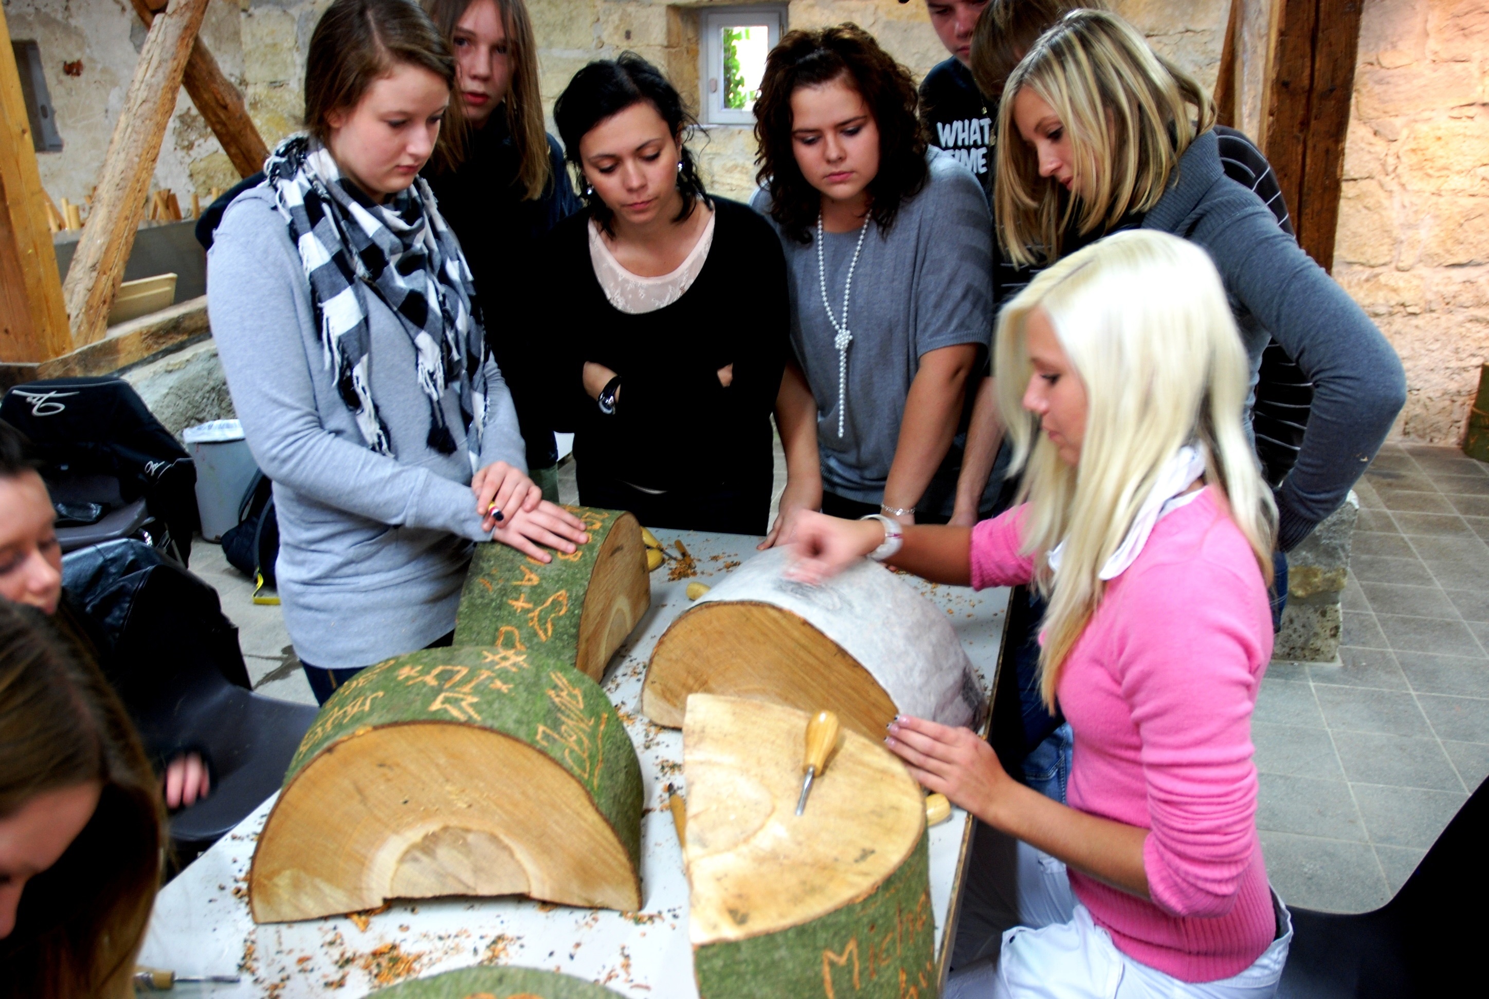
[[[1303,153],[1303,204],[1292,213],[1298,246],[1325,271],[1334,269],[1339,192],[1345,174],[1345,138],[1355,92],[1361,0],[1318,0],[1313,86],[1307,147]]]

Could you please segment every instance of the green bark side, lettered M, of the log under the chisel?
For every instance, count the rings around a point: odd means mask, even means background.
[[[779,933],[692,953],[700,999],[934,999],[928,837],[861,902]]]

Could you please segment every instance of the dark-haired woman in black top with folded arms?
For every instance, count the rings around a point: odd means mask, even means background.
[[[585,180],[587,210],[552,231],[542,268],[578,339],[557,377],[579,500],[762,534],[789,323],[774,232],[704,192],[682,98],[639,55],[579,70],[554,121]]]

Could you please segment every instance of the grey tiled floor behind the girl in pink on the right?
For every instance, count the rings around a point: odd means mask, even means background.
[[[1489,776],[1489,466],[1388,445],[1355,491],[1340,663],[1273,663],[1252,727],[1267,871],[1331,911],[1389,899]]]

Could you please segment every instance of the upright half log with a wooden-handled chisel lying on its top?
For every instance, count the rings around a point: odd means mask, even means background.
[[[683,855],[698,995],[931,999],[923,794],[881,744],[844,731],[797,816],[807,718],[688,698]]]

